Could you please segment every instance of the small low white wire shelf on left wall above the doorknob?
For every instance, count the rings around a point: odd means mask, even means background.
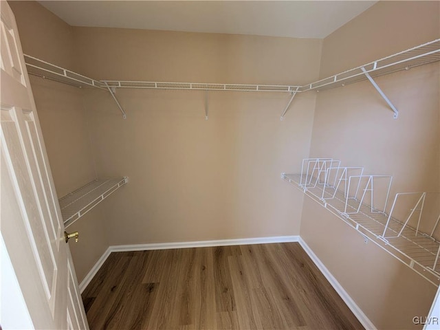
[[[127,182],[127,177],[96,179],[59,199],[65,228],[83,217],[89,210]]]

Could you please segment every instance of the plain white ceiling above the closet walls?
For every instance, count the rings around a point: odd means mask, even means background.
[[[325,38],[377,1],[39,1],[75,26]]]

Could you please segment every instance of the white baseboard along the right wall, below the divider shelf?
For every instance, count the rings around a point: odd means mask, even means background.
[[[344,290],[342,285],[340,285],[338,280],[336,280],[336,278],[331,274],[331,272],[327,270],[327,267],[325,267],[322,261],[320,261],[318,256],[316,256],[316,254],[311,250],[309,245],[307,245],[307,243],[305,243],[305,241],[302,238],[299,239],[299,243],[301,247],[305,250],[305,252],[307,252],[310,259],[315,263],[316,267],[318,267],[318,269],[322,272],[325,278],[327,278],[327,281],[329,281],[333,289],[335,289],[336,292],[338,292],[339,296],[342,298],[342,300],[344,300],[344,303],[349,307],[349,309],[353,312],[356,318],[358,318],[359,322],[361,322],[364,328],[367,330],[377,330],[375,325],[373,325],[373,322],[371,322],[371,320],[369,320],[369,318],[366,317],[362,309],[360,309],[360,307],[356,305],[356,303],[351,298],[351,296],[349,296],[347,291]]]

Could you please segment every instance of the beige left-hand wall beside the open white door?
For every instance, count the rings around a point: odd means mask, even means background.
[[[75,68],[72,27],[34,1],[11,1],[23,52],[44,61]],[[81,89],[30,76],[45,146],[58,197],[96,177],[87,110]],[[107,249],[100,206],[67,228],[80,241],[69,243],[78,281]]]

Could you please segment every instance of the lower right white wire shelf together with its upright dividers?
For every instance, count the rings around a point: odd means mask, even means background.
[[[391,175],[366,175],[362,167],[331,158],[303,159],[301,173],[281,178],[360,232],[366,243],[440,285],[440,192],[398,192],[391,199]]]

